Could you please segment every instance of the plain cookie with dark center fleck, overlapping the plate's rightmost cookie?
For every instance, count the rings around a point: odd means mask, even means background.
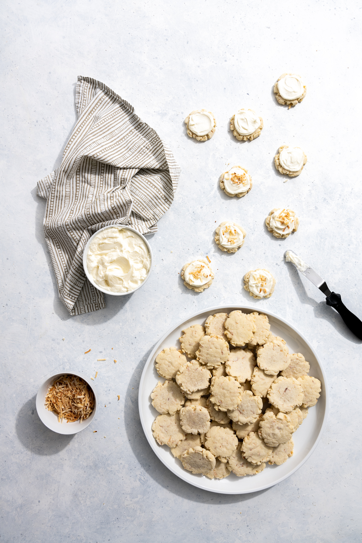
[[[295,407],[302,405],[303,399],[303,388],[294,377],[277,377],[268,390],[271,405],[283,413],[293,411]]]

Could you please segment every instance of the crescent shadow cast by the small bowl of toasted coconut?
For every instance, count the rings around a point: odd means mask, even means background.
[[[15,430],[22,445],[31,453],[51,456],[65,449],[74,435],[57,434],[40,420],[35,407],[36,395],[24,403],[16,416]]]

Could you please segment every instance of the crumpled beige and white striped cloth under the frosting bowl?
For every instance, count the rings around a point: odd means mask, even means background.
[[[75,105],[78,121],[61,165],[37,184],[47,199],[43,224],[59,298],[71,315],[105,307],[84,274],[88,239],[109,224],[156,232],[180,175],[155,130],[103,83],[78,77]]]

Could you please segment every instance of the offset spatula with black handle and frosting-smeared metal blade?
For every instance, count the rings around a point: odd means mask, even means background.
[[[331,292],[327,287],[327,283],[322,277],[315,273],[314,269],[310,268],[306,262],[304,262],[294,251],[285,251],[284,258],[286,262],[294,264],[296,269],[300,271],[305,277],[308,277],[309,281],[312,281],[313,285],[322,291],[326,296],[326,304],[334,307],[336,311],[341,315],[345,321],[346,326],[357,336],[362,339],[362,322],[356,317],[341,300],[341,295]]]

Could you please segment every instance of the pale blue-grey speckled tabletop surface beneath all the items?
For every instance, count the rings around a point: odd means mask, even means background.
[[[282,258],[294,249],[361,317],[359,3],[28,0],[3,3],[1,12],[0,540],[360,541],[361,342]],[[272,93],[284,71],[300,73],[308,89],[289,111]],[[69,317],[56,293],[42,230],[45,201],[35,186],[60,164],[75,122],[78,74],[128,100],[173,148],[182,173],[174,204],[149,238],[149,281],[134,295],[107,296],[103,311]],[[228,128],[242,106],[264,119],[251,143]],[[195,108],[217,118],[211,141],[186,135],[183,119]],[[286,183],[273,163],[283,143],[308,156],[302,174]],[[245,198],[228,198],[218,187],[228,163],[252,175]],[[300,217],[287,241],[264,225],[276,206]],[[213,242],[225,219],[247,231],[235,255]],[[177,273],[206,255],[215,279],[195,294]],[[211,305],[250,304],[242,277],[256,267],[277,280],[258,308],[288,319],[319,353],[331,395],[328,425],[312,457],[276,487],[206,493],[151,451],[138,417],[139,377],[176,321]],[[35,410],[42,381],[62,370],[98,370],[96,420],[73,438],[47,430]]]

